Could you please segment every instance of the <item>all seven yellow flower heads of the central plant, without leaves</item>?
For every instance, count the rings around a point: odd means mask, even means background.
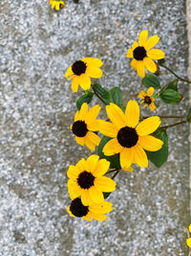
[[[131,65],[137,70],[138,76],[145,76],[145,67],[151,71],[157,71],[157,64],[153,59],[164,58],[164,53],[153,49],[159,41],[159,36],[154,35],[147,39],[148,32],[140,33],[138,42],[134,42],[132,49],[128,50],[127,57],[134,58]],[[65,74],[67,79],[72,80],[72,89],[77,92],[80,85],[83,90],[91,87],[91,78],[102,76],[102,61],[99,58],[82,58],[74,62]],[[156,108],[152,97],[154,88],[150,87],[145,93],[141,91],[139,97],[142,103],[149,105],[151,110]],[[100,106],[95,105],[88,108],[87,103],[81,105],[74,115],[74,124],[71,125],[77,144],[84,146],[91,151],[96,150],[101,139],[97,132],[110,137],[111,139],[103,148],[106,156],[119,154],[121,169],[131,172],[132,164],[138,164],[142,168],[148,167],[146,151],[159,151],[163,142],[150,135],[160,125],[158,116],[152,116],[139,121],[139,106],[136,101],[129,101],[124,112],[113,103],[106,105],[106,112],[111,122],[96,119]],[[68,212],[72,217],[82,218],[86,221],[106,220],[106,213],[112,210],[112,203],[104,200],[104,193],[116,190],[116,182],[105,176],[110,168],[110,162],[106,159],[99,159],[96,154],[90,155],[87,160],[82,158],[78,163],[70,165],[67,175],[68,191],[71,204]]]

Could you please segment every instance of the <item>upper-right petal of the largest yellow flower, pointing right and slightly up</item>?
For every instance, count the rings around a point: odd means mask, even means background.
[[[161,121],[159,116],[152,116],[143,120],[136,128],[139,136],[148,135],[159,128]]]

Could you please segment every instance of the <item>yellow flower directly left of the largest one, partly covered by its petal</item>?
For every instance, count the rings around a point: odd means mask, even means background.
[[[74,124],[71,130],[74,133],[75,141],[81,146],[84,144],[91,150],[95,151],[99,145],[100,138],[94,131],[98,130],[98,121],[96,117],[100,111],[99,105],[94,105],[88,110],[88,105],[84,103],[79,111],[74,115]]]

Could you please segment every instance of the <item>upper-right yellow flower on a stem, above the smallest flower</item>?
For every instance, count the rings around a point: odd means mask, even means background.
[[[145,67],[152,73],[157,71],[157,65],[153,59],[165,57],[161,50],[152,49],[159,42],[159,36],[153,35],[149,39],[147,37],[148,31],[142,31],[138,37],[138,42],[135,41],[132,49],[127,51],[127,58],[134,58],[131,61],[131,66],[138,71],[138,76],[141,78],[145,76]]]

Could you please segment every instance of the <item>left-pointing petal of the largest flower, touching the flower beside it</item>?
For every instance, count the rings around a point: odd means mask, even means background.
[[[112,138],[117,137],[118,129],[115,124],[106,122],[104,120],[98,120],[98,129],[105,136]]]

